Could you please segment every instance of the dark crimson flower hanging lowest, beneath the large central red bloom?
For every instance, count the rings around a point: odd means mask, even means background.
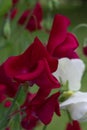
[[[33,124],[32,127],[34,128],[38,121],[42,121],[45,125],[49,124],[54,112],[60,116],[58,97],[59,93],[57,92],[52,96],[41,100],[40,97],[37,98],[37,94],[32,95],[28,93],[26,100],[21,107],[22,109],[25,108],[24,114],[26,113],[26,116],[22,120],[23,128],[32,130],[31,124]]]

